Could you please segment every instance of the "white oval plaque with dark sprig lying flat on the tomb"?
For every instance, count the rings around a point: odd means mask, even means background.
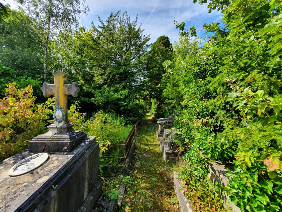
[[[31,155],[24,160],[21,160],[19,163],[15,164],[12,168],[10,168],[8,174],[10,176],[18,176],[24,173],[27,173],[42,163],[44,163],[48,158],[47,153],[38,153],[35,155]]]

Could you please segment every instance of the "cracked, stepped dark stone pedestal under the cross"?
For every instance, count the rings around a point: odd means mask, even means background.
[[[38,135],[28,143],[30,152],[70,152],[84,138],[83,131],[73,130],[73,124],[51,124],[49,131]]]

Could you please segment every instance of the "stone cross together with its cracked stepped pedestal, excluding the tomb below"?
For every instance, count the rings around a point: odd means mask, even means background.
[[[73,130],[73,124],[68,120],[68,95],[78,96],[80,89],[73,82],[67,84],[68,74],[58,70],[53,73],[54,84],[43,83],[43,96],[55,95],[54,122],[49,125],[49,131],[33,138],[28,144],[30,152],[70,152],[85,137],[83,131]]]

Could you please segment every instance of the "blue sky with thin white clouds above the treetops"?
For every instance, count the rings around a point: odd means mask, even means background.
[[[3,2],[3,0],[2,0]],[[14,0],[4,0],[4,4],[16,7]],[[91,22],[98,25],[97,15],[102,20],[107,19],[111,11],[127,11],[131,19],[134,20],[138,14],[138,23],[142,24],[144,34],[150,34],[150,43],[155,42],[161,35],[167,35],[170,42],[178,41],[179,30],[175,28],[173,20],[178,23],[184,21],[185,28],[196,26],[196,29],[202,29],[204,23],[211,23],[221,19],[218,11],[208,13],[207,5],[194,4],[193,0],[86,0],[90,11],[88,16],[82,16],[86,28],[89,28]],[[199,32],[198,36],[204,36]]]

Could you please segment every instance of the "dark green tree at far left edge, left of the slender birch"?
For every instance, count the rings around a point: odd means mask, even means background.
[[[17,72],[17,77],[41,77],[42,54],[33,20],[24,11],[0,9],[0,62]]]

